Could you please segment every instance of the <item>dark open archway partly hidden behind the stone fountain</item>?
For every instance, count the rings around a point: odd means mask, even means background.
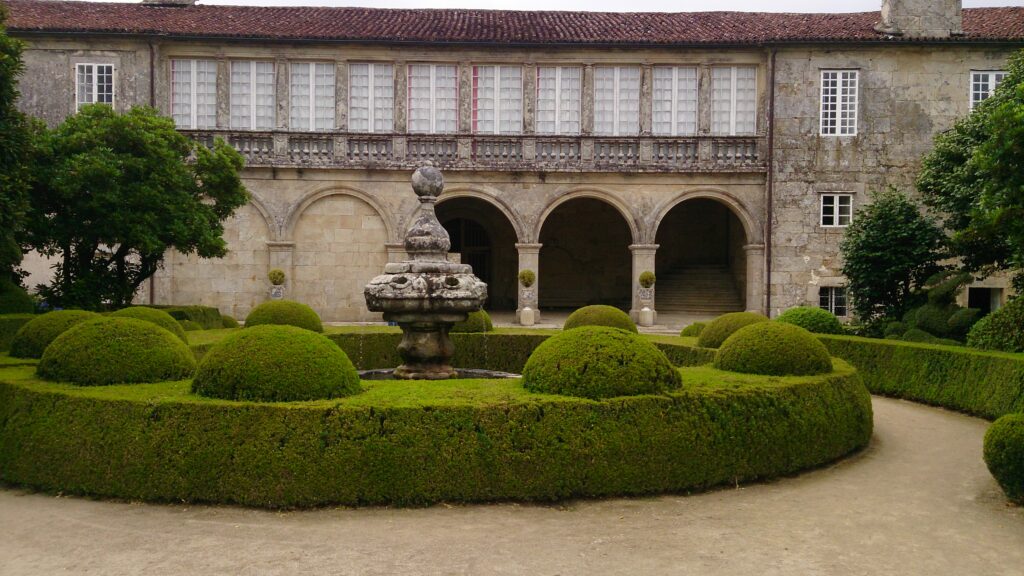
[[[452,239],[451,252],[487,283],[484,307],[515,310],[519,256],[515,229],[505,214],[485,200],[469,197],[442,199],[435,211]]]

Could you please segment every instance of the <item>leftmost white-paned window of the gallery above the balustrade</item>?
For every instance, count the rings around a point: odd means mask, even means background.
[[[217,126],[217,63],[171,60],[171,118],[178,128]]]

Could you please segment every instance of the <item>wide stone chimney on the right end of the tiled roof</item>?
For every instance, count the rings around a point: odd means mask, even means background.
[[[874,30],[904,38],[949,38],[964,34],[961,0],[882,0]]]

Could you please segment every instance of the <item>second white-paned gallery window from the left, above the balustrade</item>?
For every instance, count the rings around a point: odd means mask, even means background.
[[[273,63],[232,61],[230,98],[231,128],[272,130],[276,119]]]

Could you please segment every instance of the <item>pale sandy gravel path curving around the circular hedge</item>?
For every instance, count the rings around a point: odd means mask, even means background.
[[[270,512],[0,490],[0,574],[1024,574],[987,422],[874,410],[861,454],[688,497]]]

